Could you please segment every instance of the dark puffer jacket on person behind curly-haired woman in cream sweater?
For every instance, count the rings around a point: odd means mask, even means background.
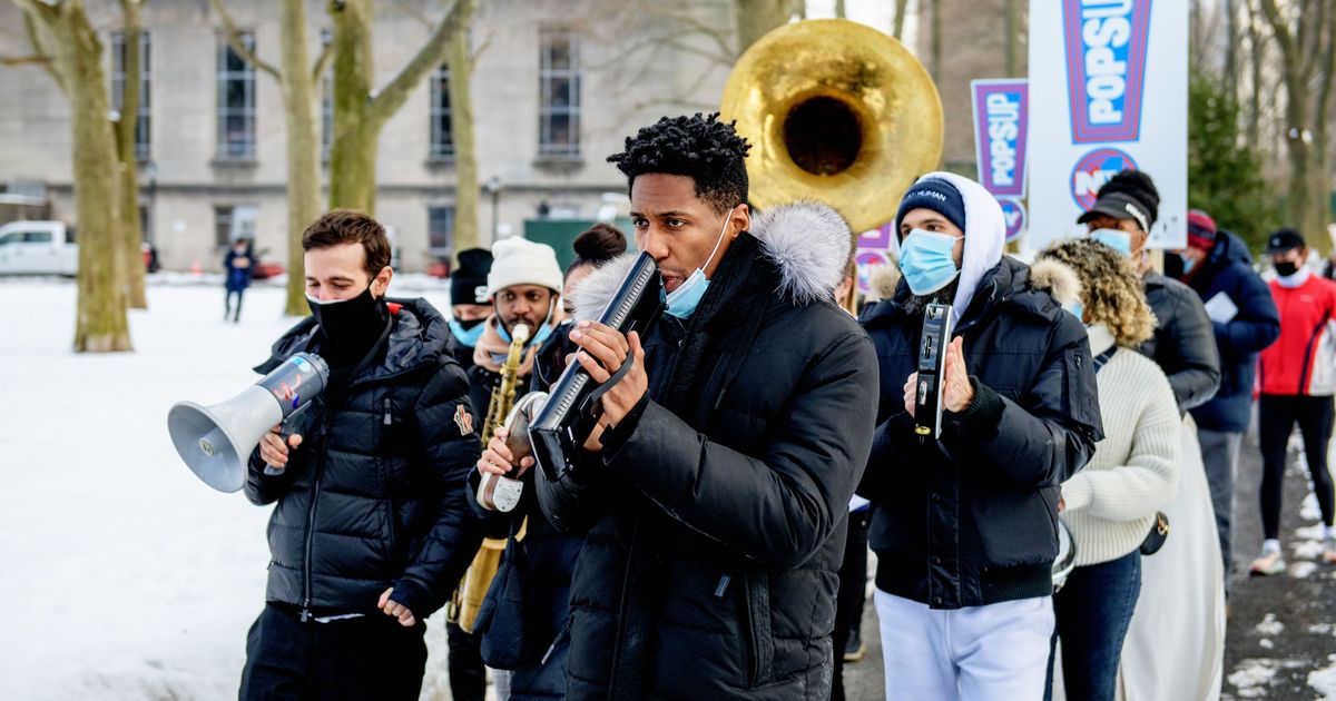
[[[1206,403],[1220,387],[1220,350],[1206,307],[1192,287],[1158,272],[1148,272],[1142,283],[1156,335],[1137,350],[1169,377],[1180,413]]]

